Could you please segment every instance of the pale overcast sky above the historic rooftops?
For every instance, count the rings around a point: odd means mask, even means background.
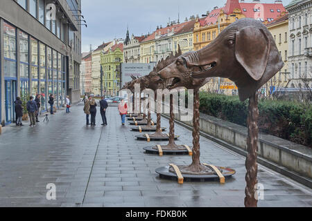
[[[252,0],[245,0],[252,2]],[[274,3],[274,0],[261,0]],[[291,0],[284,0],[287,6]],[[205,14],[215,6],[223,7],[226,0],[82,0],[82,11],[87,21],[82,30],[83,52],[89,51],[89,44],[95,49],[103,41],[125,38],[127,26],[130,35],[136,36],[153,32],[157,26],[165,27],[169,21],[180,21],[191,15]]]

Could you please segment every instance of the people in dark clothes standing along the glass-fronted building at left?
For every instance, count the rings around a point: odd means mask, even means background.
[[[33,99],[33,96],[29,97],[29,101],[26,104],[26,109],[28,112],[29,119],[31,121],[31,124],[29,126],[35,126],[37,122],[40,122],[38,119],[38,115],[40,113],[40,96],[41,95],[36,95],[35,99]],[[54,96],[51,94],[49,95],[49,102],[51,106],[51,115],[54,115],[53,113],[53,106],[54,106]],[[66,113],[70,113],[69,108],[70,108],[70,100],[69,96],[66,97]],[[15,101],[15,114],[16,114],[16,126],[23,126],[22,124],[22,117],[24,115],[24,108],[23,108],[23,102],[21,101],[20,97],[16,98]]]

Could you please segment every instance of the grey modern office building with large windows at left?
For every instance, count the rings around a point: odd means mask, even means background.
[[[0,122],[15,121],[17,96],[80,99],[81,0],[0,1]]]

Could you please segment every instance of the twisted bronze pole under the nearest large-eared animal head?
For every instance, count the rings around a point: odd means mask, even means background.
[[[248,155],[245,162],[247,173],[245,175],[246,188],[245,188],[245,206],[246,207],[257,207],[258,200],[255,199],[255,185],[257,184],[257,151],[258,151],[258,94],[254,93],[249,99],[248,106],[248,137],[247,137],[247,151]]]

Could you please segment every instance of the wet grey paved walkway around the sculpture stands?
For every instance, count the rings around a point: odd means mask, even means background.
[[[153,116],[155,118],[155,116]],[[41,119],[41,121],[43,118]],[[83,106],[59,111],[35,128],[9,126],[0,135],[0,206],[243,206],[245,157],[201,137],[201,161],[229,166],[236,175],[225,184],[161,180],[155,169],[190,164],[188,155],[148,155],[144,146],[168,142],[135,140],[138,132],[121,126],[116,107],[108,126],[85,125]],[[168,128],[168,120],[162,118]],[[191,131],[175,125],[177,144],[191,146]],[[259,165],[263,200],[259,206],[312,206],[306,186]],[[56,200],[46,200],[55,184]]]

